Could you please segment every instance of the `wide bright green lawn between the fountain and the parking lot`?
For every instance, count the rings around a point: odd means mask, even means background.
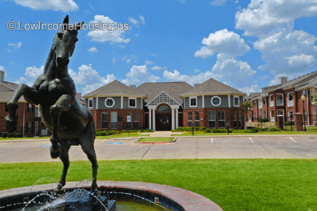
[[[224,211],[317,211],[316,159],[100,160],[98,180],[152,182],[203,195]],[[0,189],[58,179],[61,162],[0,164]],[[131,176],[134,175],[134,176]],[[91,178],[89,161],[73,161],[67,181]],[[52,183],[42,180],[40,184]]]

